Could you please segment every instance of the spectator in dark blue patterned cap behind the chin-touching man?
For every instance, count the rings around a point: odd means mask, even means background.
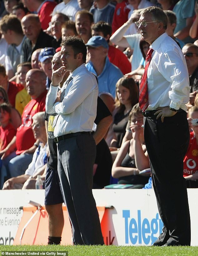
[[[42,69],[46,76],[46,88],[49,89],[52,80],[52,58],[56,53],[53,47],[46,47],[41,50],[38,55],[39,67]]]

